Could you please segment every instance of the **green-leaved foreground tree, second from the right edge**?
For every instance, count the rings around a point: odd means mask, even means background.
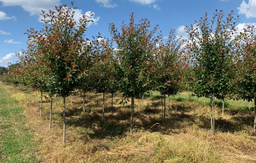
[[[197,97],[210,98],[211,134],[214,129],[214,97],[224,98],[232,84],[233,74],[230,71],[234,65],[234,49],[238,19],[234,13],[225,14],[216,10],[212,20],[206,13],[199,21],[186,27],[189,39],[189,53],[192,57],[194,70],[192,91]]]

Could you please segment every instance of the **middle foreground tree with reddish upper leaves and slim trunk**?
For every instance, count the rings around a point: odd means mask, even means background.
[[[117,66],[120,82],[120,91],[124,98],[131,97],[131,128],[133,130],[134,97],[149,91],[153,78],[152,73],[153,49],[157,43],[154,34],[157,26],[149,31],[150,22],[142,19],[135,24],[134,14],[131,14],[128,25],[123,22],[121,31],[115,24],[110,24],[110,34],[117,44]]]

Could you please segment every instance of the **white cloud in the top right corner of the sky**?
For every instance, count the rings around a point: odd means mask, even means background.
[[[248,4],[243,0],[238,7],[238,14],[245,14],[246,18],[256,17],[256,0],[249,0]]]

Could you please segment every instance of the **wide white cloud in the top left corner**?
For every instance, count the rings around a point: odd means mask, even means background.
[[[3,6],[21,6],[30,15],[41,14],[42,10],[55,9],[60,0],[0,0]]]

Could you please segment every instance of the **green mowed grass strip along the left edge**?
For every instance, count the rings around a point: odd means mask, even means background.
[[[36,144],[18,101],[0,83],[0,163],[35,163]]]

